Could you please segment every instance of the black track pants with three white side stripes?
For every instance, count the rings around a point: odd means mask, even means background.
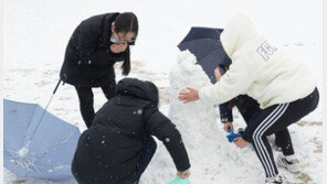
[[[243,137],[253,143],[267,177],[277,175],[278,171],[266,137],[273,133],[285,133],[289,125],[297,122],[304,116],[314,111],[318,106],[318,101],[319,93],[316,88],[305,98],[263,109],[260,117],[246,127],[246,133],[244,132]],[[289,133],[286,133],[286,136],[289,137]],[[287,142],[284,143],[287,144]]]

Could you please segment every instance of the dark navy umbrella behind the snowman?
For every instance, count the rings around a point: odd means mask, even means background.
[[[202,66],[213,84],[215,83],[214,69],[219,67],[220,72],[224,74],[223,66],[229,66],[232,63],[220,41],[222,31],[222,29],[192,26],[178,45],[180,51],[189,50],[196,55],[198,64]]]

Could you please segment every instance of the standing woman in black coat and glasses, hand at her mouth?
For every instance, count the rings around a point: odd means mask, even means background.
[[[66,47],[60,77],[75,87],[82,117],[88,128],[94,118],[93,87],[101,87],[107,99],[116,89],[114,64],[130,71],[129,45],[135,43],[138,21],[134,13],[106,13],[84,20]]]

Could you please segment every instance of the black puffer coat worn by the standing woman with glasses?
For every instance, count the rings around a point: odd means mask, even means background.
[[[60,73],[63,82],[83,87],[99,87],[115,82],[113,65],[123,61],[127,52],[115,54],[110,51],[110,28],[118,14],[95,15],[75,29]]]

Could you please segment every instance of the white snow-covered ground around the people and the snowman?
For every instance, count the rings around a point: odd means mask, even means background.
[[[44,107],[59,79],[65,46],[75,26],[91,15],[113,11],[133,11],[138,15],[139,36],[131,51],[129,76],[149,79],[159,86],[160,110],[166,115],[172,101],[169,71],[176,65],[179,54],[176,45],[191,26],[223,28],[225,22],[239,12],[252,17],[262,33],[295,59],[306,63],[308,69],[315,71],[319,78],[320,95],[324,94],[321,0],[4,0],[3,3],[3,98],[7,99],[36,102]],[[120,69],[117,69],[117,79],[122,77]],[[94,93],[95,108],[98,109],[105,102],[105,97],[101,89],[94,89]],[[49,111],[78,126],[81,131],[85,130],[77,95],[72,86],[60,86]],[[238,111],[235,116],[236,127],[244,127]],[[316,111],[289,128],[300,160],[302,173],[293,175],[281,169],[288,183],[323,183],[321,121],[320,104]],[[200,123],[205,126],[205,122]],[[207,125],[209,123],[212,122]],[[217,134],[201,137],[199,134],[209,130],[188,130],[186,127],[180,129],[182,133],[198,131],[197,142],[193,143],[196,140],[192,140],[192,137],[183,134],[184,142],[189,142],[186,144],[189,145],[187,149],[190,149],[191,158],[199,158],[191,169],[191,183],[263,183],[264,173],[255,153],[249,149],[239,150],[221,140],[225,133],[221,129],[219,118],[213,129],[217,131],[210,131]],[[201,138],[203,140],[199,140]],[[218,139],[217,142],[210,142],[208,147],[196,147],[201,141],[207,144],[207,139],[214,138]],[[199,148],[202,150],[197,150]],[[203,161],[202,165],[200,161]],[[141,184],[164,184],[173,178],[175,173],[168,152],[159,143],[158,152],[145,172]],[[4,169],[4,184],[17,183],[55,182],[18,178]],[[75,182],[65,181],[59,184]]]

